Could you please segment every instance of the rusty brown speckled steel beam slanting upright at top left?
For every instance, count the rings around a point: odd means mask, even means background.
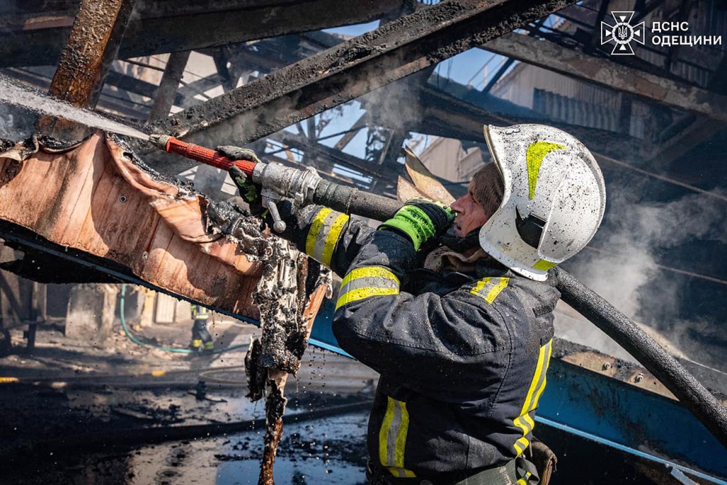
[[[108,66],[136,0],[83,0],[48,94],[84,108],[96,105]]]

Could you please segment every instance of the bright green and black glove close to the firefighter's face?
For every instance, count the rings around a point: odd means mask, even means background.
[[[379,229],[403,233],[418,251],[425,242],[438,236],[454,220],[454,212],[441,202],[428,199],[411,199],[399,209],[394,217]]]

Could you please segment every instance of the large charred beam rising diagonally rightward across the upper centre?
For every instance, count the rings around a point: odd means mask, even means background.
[[[574,0],[443,1],[159,122],[249,143],[512,31]],[[226,121],[222,123],[222,121]]]

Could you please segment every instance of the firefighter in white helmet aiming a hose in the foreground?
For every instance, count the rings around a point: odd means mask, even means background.
[[[371,484],[550,476],[553,454],[533,437],[560,297],[548,270],[593,237],[603,176],[559,129],[485,127],[485,136],[493,163],[451,207],[415,199],[374,230],[308,206],[283,234],[342,276],[334,334],[381,375],[369,418]],[[249,192],[241,171],[230,174]],[[545,457],[537,468],[533,452]]]

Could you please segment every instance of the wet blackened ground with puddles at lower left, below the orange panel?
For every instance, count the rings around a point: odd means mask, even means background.
[[[188,356],[140,347],[119,332],[93,346],[47,328],[39,330],[32,353],[16,345],[0,358],[0,377],[20,380],[0,384],[0,483],[257,484],[265,406],[245,398],[241,366],[245,344],[259,330],[215,321],[210,331],[216,345],[243,348]],[[135,333],[145,342],[182,347],[190,326]],[[19,332],[14,337],[22,342]],[[276,483],[364,482],[366,406],[375,378],[355,361],[308,349],[299,377],[286,387],[289,421]],[[351,404],[363,405],[346,414],[328,411]],[[310,419],[311,411],[323,415]],[[222,434],[239,422],[249,430]],[[173,434],[195,426],[217,429],[213,436]],[[172,434],[159,438],[159,430]]]

